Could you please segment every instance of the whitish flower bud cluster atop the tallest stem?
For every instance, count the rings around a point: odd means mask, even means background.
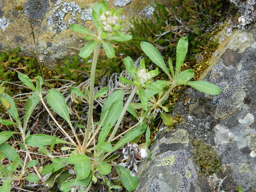
[[[112,32],[113,26],[119,25],[117,16],[111,16],[110,12],[107,11],[100,16],[100,21],[103,25],[103,30],[106,32]]]

